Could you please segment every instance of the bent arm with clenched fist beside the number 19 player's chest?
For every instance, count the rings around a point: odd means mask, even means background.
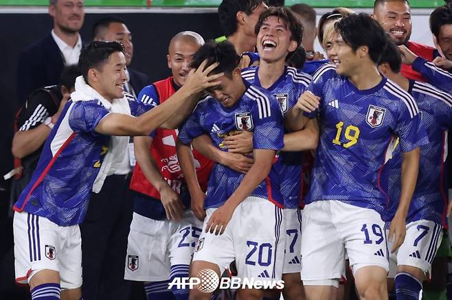
[[[320,98],[310,91],[305,91],[291,110],[284,115],[284,126],[290,132],[302,130],[309,119],[303,114],[313,113],[319,108],[319,105]]]

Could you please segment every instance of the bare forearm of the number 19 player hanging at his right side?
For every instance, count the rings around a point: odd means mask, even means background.
[[[402,162],[402,190],[400,192],[400,202],[397,211],[403,216],[407,216],[409,204],[413,197],[416,181],[418,180],[420,149],[416,148],[411,152],[403,153]]]

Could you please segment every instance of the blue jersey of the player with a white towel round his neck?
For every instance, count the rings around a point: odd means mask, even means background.
[[[149,109],[137,101],[128,103],[135,116]],[[42,216],[60,226],[83,221],[89,193],[109,150],[110,137],[94,129],[109,113],[99,100],[66,104],[14,210]]]

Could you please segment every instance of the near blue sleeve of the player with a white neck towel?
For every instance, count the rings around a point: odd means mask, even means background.
[[[110,113],[98,100],[74,102],[69,113],[69,126],[74,132],[95,133],[95,127]]]

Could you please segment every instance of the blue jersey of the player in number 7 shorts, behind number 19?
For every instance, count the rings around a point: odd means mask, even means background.
[[[429,143],[420,147],[419,173],[416,189],[411,199],[407,222],[431,220],[447,226],[447,130],[452,126],[452,96],[431,84],[410,80],[409,93],[418,104],[422,123],[429,136]],[[398,143],[394,143],[392,159],[387,161],[383,174],[387,174],[387,194],[389,206],[383,220],[392,220],[401,192],[400,172],[402,153]],[[385,174],[385,177],[386,177]]]

